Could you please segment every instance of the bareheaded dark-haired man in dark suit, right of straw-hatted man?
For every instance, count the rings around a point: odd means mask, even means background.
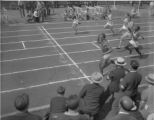
[[[131,60],[130,65],[132,70],[124,77],[123,81],[121,82],[120,88],[136,103],[138,97],[138,86],[142,80],[142,76],[138,72],[138,61]]]

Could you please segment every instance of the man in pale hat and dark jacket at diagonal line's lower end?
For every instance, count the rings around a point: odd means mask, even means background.
[[[94,72],[91,76],[92,83],[85,85],[79,93],[80,107],[79,111],[94,117],[94,120],[100,110],[100,99],[104,93],[104,87],[100,85],[103,81],[101,73]]]

